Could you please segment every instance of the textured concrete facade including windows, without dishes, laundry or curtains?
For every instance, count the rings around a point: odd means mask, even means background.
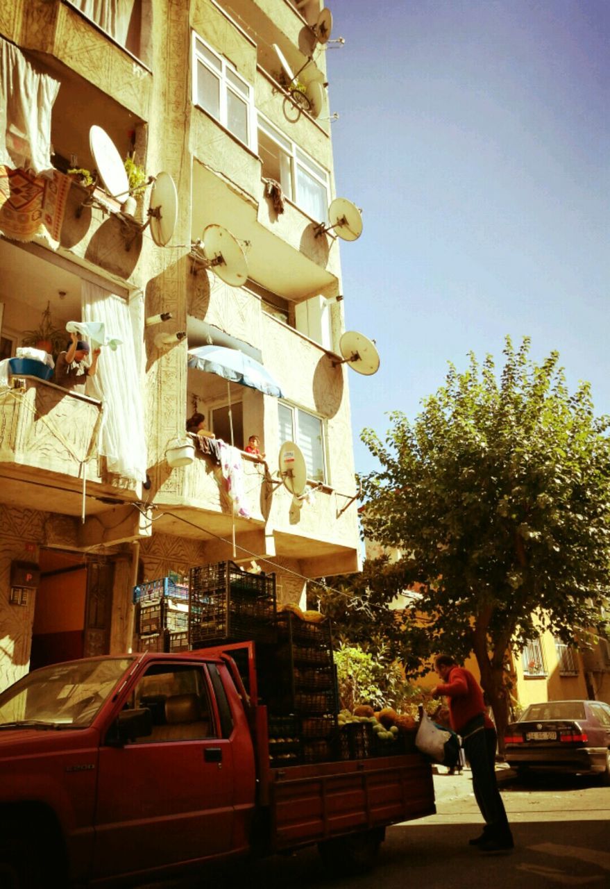
[[[324,89],[317,118],[296,108],[279,82],[273,50],[281,46],[294,70],[311,58],[299,79],[325,82],[324,52],[312,28],[321,4],[310,0],[297,10],[289,0],[134,0],[126,6],[131,18],[122,42],[88,18],[84,4],[0,0],[0,36],[61,84],[51,116],[53,164],[62,172],[66,164],[93,170],[89,131],[98,124],[121,156],[135,150],[147,175],[170,173],[178,194],[176,227],[162,247],[145,225],[149,189],[139,197],[135,225],[103,191],[91,197],[74,182],[59,246],[43,236],[27,243],[0,237],[3,356],[14,355],[47,305],[56,327],[79,319],[83,281],[140,300],[142,317],[172,316],[140,324],[131,344],[142,349],[147,488],[110,473],[98,452],[103,399],[32,379],[0,391],[0,688],[28,671],[33,640],[32,666],[58,660],[68,632],[78,637],[70,637],[76,654],[128,649],[136,582],[256,558],[277,573],[279,597],[298,601],[306,578],[359,568],[348,372],[337,364],[344,332],[339,245],[330,233],[320,234],[324,219],[312,209],[336,196],[328,98]],[[210,83],[218,85],[218,114],[203,107]],[[277,164],[283,212],[265,196]],[[226,284],[201,261],[194,244],[210,225],[229,229],[242,246],[245,286]],[[159,334],[176,332],[186,337],[160,342]],[[187,350],[204,345],[210,332],[257,354],[284,397],[234,383],[227,392],[226,380],[188,369]],[[221,428],[229,396],[234,444],[241,449],[256,434],[266,454],[266,463],[242,454],[250,518],[234,517],[209,456],[196,453],[190,465],[173,469],[166,458],[195,409],[208,428]],[[287,416],[296,438],[298,424],[319,430],[312,438],[319,457],[311,502],[293,501],[278,478]],[[16,562],[42,573],[23,601],[14,593]],[[72,589],[72,575],[84,583],[74,581],[74,596],[83,597],[82,626],[72,611],[65,626],[43,621],[42,605],[37,619],[37,602],[55,595],[58,577]],[[59,614],[69,610],[57,607]]]

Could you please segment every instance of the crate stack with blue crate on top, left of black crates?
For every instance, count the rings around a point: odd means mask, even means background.
[[[140,652],[188,649],[188,585],[162,577],[133,588]]]

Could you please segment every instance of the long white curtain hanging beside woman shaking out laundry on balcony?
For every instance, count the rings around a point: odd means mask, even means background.
[[[98,370],[87,382],[88,393],[104,404],[99,453],[111,472],[144,482],[147,442],[140,376],[144,297],[139,294],[128,302],[83,281],[82,300],[83,321],[103,322],[108,337],[123,343],[115,351],[102,348]]]

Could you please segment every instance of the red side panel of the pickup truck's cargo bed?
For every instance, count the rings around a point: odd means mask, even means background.
[[[271,769],[269,802],[273,852],[436,812],[418,753]]]

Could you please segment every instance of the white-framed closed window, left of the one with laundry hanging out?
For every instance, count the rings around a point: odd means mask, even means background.
[[[210,52],[210,55],[214,57],[214,60],[218,62],[218,68],[214,68],[210,60],[206,59],[202,52],[198,51],[197,44],[200,43],[204,47],[207,52]],[[226,132],[229,132],[234,139],[248,148],[250,151],[257,151],[257,111],[254,104],[254,87],[250,84],[242,75],[239,73],[237,68],[234,66],[233,62],[226,59],[225,56],[221,55],[219,52],[210,46],[207,41],[203,39],[200,34],[193,31],[193,44],[192,44],[192,53],[193,53],[193,76],[192,76],[192,84],[191,84],[191,97],[193,100],[193,104],[195,108],[199,108],[204,114],[209,116],[212,120],[216,121]],[[208,108],[204,108],[201,101],[199,100],[199,94],[197,90],[198,86],[198,73],[199,73],[199,65],[202,64],[203,68],[214,77],[218,79],[218,117],[213,114]],[[238,83],[232,82],[232,78],[234,81]],[[240,85],[243,87],[243,93],[240,92]],[[228,95],[227,93],[231,92],[234,96],[236,96],[239,100],[242,100],[246,106],[246,126],[247,126],[247,138],[244,141],[242,136],[239,133],[234,132],[229,126],[229,113],[228,113]]]

